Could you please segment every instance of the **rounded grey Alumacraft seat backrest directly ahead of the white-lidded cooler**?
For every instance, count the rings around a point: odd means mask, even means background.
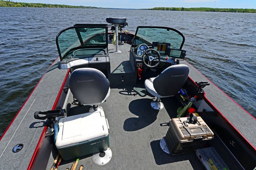
[[[94,68],[75,69],[69,79],[69,89],[81,104],[101,104],[110,93],[106,76]]]

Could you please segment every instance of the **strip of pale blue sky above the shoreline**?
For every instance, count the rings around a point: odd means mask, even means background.
[[[103,8],[145,9],[154,7],[208,7],[256,9],[256,0],[13,0],[14,2],[48,3]]]

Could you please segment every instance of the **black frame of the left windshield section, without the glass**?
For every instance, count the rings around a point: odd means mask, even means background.
[[[67,30],[70,30],[70,29],[74,29],[76,30],[76,33],[77,33],[77,29],[79,28],[105,28],[105,36],[108,37],[108,24],[75,24],[74,26],[72,27],[68,27],[68,28],[64,28],[63,30],[61,30],[57,35],[56,35],[56,46],[57,46],[57,49],[58,49],[58,54],[59,54],[59,57],[60,57],[60,61],[63,60],[63,57],[64,55],[68,54],[70,51],[72,50],[77,50],[77,49],[87,49],[87,48],[103,48],[103,49],[107,49],[108,51],[108,38],[106,38],[106,43],[105,44],[102,44],[102,45],[91,45],[91,46],[76,46],[74,48],[67,48],[66,50],[64,50],[64,52],[61,53],[61,50],[60,50],[60,44],[58,42],[58,39],[59,39],[59,36],[67,31]],[[79,31],[78,31],[79,32]],[[79,35],[79,33],[76,34],[77,35],[77,40],[79,40],[80,42],[83,42],[82,40],[82,37],[81,35]]]

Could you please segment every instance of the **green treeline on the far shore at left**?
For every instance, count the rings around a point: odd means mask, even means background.
[[[24,2],[13,2],[0,1],[0,7],[35,7],[35,8],[97,8],[93,6],[71,6],[71,5],[58,5],[58,4],[45,4],[45,3],[24,3]]]

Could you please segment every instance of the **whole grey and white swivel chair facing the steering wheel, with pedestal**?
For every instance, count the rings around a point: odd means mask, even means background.
[[[164,107],[160,98],[166,98],[177,94],[188,78],[187,65],[173,65],[166,68],[157,77],[145,80],[148,92],[156,96],[156,101],[151,102],[151,107],[160,110]]]

